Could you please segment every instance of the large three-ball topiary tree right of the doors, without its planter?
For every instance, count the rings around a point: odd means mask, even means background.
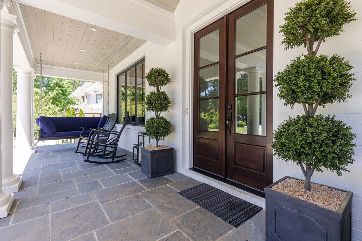
[[[275,76],[278,97],[291,108],[302,104],[305,115],[289,117],[273,132],[274,155],[300,165],[310,191],[313,172],[322,168],[348,171],[354,160],[352,128],[334,116],[315,115],[317,107],[346,102],[354,74],[343,57],[317,56],[321,42],[339,35],[346,23],[356,21],[356,13],[346,0],[304,0],[286,13],[280,26],[285,49],[304,46],[307,55],[296,57]],[[316,44],[315,44],[316,43]],[[315,48],[314,48],[315,47]]]

